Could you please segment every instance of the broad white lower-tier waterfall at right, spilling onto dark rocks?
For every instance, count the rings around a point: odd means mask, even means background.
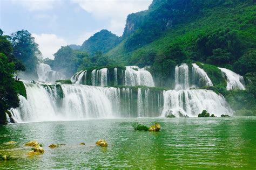
[[[164,92],[163,117],[179,114],[197,117],[203,110],[215,116],[232,114],[225,98],[211,90],[169,90]]]

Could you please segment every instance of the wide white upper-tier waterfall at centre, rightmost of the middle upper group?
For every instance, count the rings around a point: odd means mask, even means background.
[[[138,66],[126,66],[125,86],[154,87],[153,77],[145,68]]]

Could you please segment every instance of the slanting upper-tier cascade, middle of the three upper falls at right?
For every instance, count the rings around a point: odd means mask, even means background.
[[[201,69],[196,63],[192,63],[192,81],[197,87],[213,86],[211,79],[206,72]]]

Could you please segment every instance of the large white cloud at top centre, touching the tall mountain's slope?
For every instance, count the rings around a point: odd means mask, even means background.
[[[143,11],[149,8],[152,0],[72,0],[96,19],[109,19],[107,29],[122,35],[125,20],[129,13]]]

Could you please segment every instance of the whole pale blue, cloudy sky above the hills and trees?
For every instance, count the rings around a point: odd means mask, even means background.
[[[107,29],[122,36],[129,13],[149,8],[152,0],[0,0],[0,29],[10,35],[28,30],[44,58],[61,46],[82,45]]]

